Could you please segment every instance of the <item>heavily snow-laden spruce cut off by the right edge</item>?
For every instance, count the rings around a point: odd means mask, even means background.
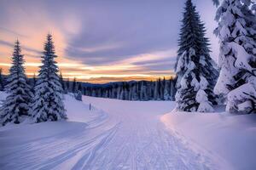
[[[221,68],[216,94],[227,95],[226,111],[256,112],[256,15],[251,0],[224,0],[214,31],[219,37]]]

